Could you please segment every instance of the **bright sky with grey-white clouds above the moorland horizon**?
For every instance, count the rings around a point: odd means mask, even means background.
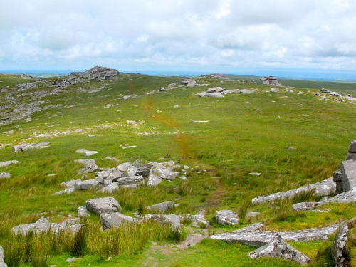
[[[0,70],[356,73],[355,0],[1,0]]]

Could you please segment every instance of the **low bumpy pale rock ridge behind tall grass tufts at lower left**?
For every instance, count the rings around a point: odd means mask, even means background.
[[[61,224],[52,224],[48,222],[48,220],[45,217],[41,217],[36,221],[36,223],[33,224],[20,224],[18,226],[14,226],[11,231],[14,232],[14,234],[22,234],[23,236],[26,236],[30,231],[33,232],[33,234],[40,234],[42,232],[48,232],[51,231],[53,234],[58,234],[59,231],[72,231],[75,233],[78,231],[83,225],[80,224],[80,219],[75,218],[75,219],[68,219],[66,221],[63,221]]]

